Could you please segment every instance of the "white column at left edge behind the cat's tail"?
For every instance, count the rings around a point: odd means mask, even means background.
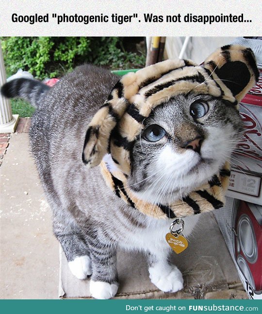
[[[0,86],[6,82],[5,68],[0,42]],[[0,133],[15,132],[18,114],[12,115],[10,100],[0,94]]]

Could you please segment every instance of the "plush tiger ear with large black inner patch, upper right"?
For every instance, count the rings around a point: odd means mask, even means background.
[[[259,77],[252,50],[239,45],[219,48],[205,60],[203,66],[211,71],[224,94],[230,91],[238,103]]]

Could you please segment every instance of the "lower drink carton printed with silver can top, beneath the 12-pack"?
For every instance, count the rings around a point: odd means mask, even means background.
[[[262,299],[262,206],[227,197],[214,212],[250,299]]]

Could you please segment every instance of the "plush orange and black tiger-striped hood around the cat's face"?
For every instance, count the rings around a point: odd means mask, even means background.
[[[107,185],[126,203],[155,218],[184,217],[224,205],[229,183],[229,163],[174,204],[145,203],[127,187],[131,173],[131,151],[144,119],[171,97],[194,91],[238,103],[256,83],[259,72],[251,49],[228,45],[216,50],[202,65],[191,60],[170,59],[136,73],[124,75],[91,120],[83,146],[82,161],[88,167],[101,164]],[[116,171],[109,171],[106,154],[111,154]]]

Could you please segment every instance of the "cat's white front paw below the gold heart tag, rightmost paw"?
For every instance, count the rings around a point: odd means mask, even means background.
[[[183,289],[183,277],[175,265],[168,267],[150,267],[149,278],[151,282],[164,292],[177,292]]]

